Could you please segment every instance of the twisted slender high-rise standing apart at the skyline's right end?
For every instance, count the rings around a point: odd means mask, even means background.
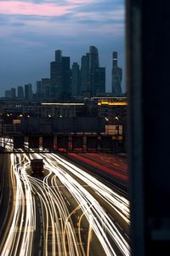
[[[117,67],[117,52],[114,51],[112,54],[112,95],[113,96],[122,96],[122,68]]]

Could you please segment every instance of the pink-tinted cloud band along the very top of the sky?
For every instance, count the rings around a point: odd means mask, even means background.
[[[115,11],[122,15],[124,4],[122,0],[1,0],[0,15],[26,15],[42,17],[59,17],[62,15],[94,15],[100,13],[105,16],[105,12]],[[95,16],[95,15],[94,15]]]

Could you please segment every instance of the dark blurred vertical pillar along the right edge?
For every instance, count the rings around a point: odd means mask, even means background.
[[[131,241],[138,256],[170,251],[169,9],[168,0],[127,0]]]

